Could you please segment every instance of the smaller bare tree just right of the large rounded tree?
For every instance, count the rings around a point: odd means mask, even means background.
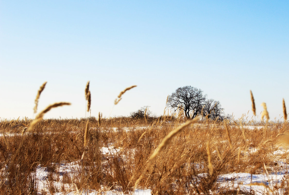
[[[224,120],[225,114],[223,112],[223,108],[221,107],[221,103],[219,101],[215,101],[214,99],[208,99],[205,101],[203,108],[203,116],[212,119],[212,120]]]

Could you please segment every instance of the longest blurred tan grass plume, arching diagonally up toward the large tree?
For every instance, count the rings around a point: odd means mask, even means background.
[[[155,152],[150,156],[149,161],[147,163],[147,165],[145,166],[144,170],[142,171],[142,174],[140,175],[140,177],[136,180],[136,182],[134,183],[134,188],[136,188],[136,186],[138,185],[138,183],[140,182],[140,180],[142,179],[142,177],[144,176],[145,172],[147,172],[149,166],[153,163],[153,161],[155,160],[155,158],[157,158],[158,154],[164,149],[164,147],[166,147],[170,141],[173,139],[173,137],[175,137],[177,134],[179,134],[180,132],[182,132],[182,130],[185,127],[188,127],[189,125],[196,123],[199,120],[199,117],[192,119],[188,122],[186,122],[183,125],[180,125],[179,127],[177,127],[175,130],[171,131],[160,143],[160,145],[155,149]],[[134,178],[134,176],[131,177],[131,180]]]

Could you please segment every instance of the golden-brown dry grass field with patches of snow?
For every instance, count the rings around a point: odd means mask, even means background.
[[[0,194],[288,194],[287,122],[32,121],[0,122]]]

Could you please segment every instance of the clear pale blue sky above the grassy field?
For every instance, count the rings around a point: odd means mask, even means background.
[[[289,106],[289,1],[0,1],[0,117],[127,116],[186,85],[225,113],[271,119]],[[114,105],[119,92],[131,85]],[[289,109],[287,109],[289,110]],[[249,114],[247,115],[249,111]],[[281,116],[279,116],[281,114]]]

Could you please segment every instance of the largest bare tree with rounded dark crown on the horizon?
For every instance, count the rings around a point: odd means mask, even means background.
[[[188,119],[195,118],[198,114],[201,114],[201,110],[206,100],[206,94],[203,94],[201,89],[184,86],[177,88],[170,96],[168,96],[167,105],[172,107],[175,111],[183,109],[185,116]]]

